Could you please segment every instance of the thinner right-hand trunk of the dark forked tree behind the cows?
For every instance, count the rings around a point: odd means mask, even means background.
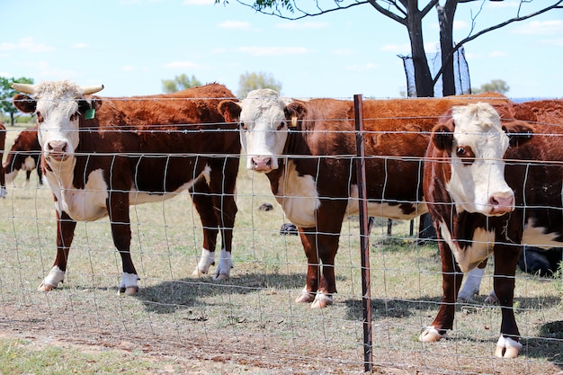
[[[444,6],[436,5],[440,24],[440,49],[442,51],[442,95],[455,95],[453,68],[453,16],[457,0],[448,0]]]

